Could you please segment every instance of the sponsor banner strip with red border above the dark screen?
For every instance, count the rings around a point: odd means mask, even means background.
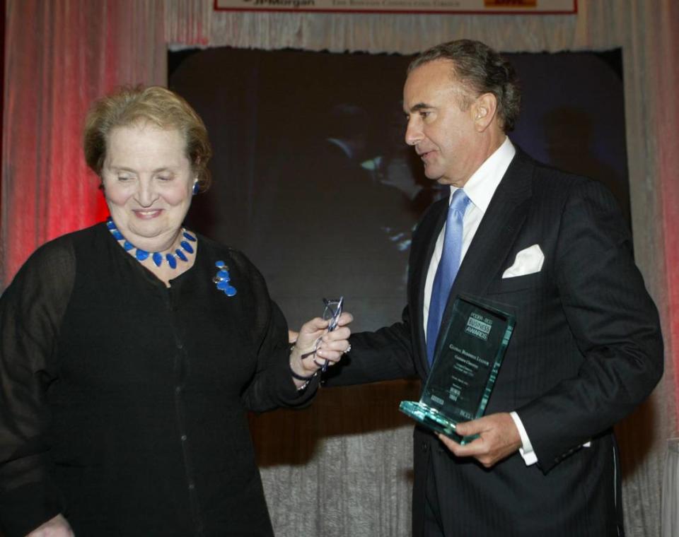
[[[330,11],[553,15],[577,12],[577,0],[214,0],[217,11]]]

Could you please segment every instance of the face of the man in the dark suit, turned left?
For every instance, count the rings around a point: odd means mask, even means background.
[[[472,102],[468,110],[460,109],[466,91],[451,78],[452,67],[451,60],[437,59],[408,75],[403,88],[405,141],[422,158],[426,177],[463,187],[485,155],[475,128],[477,106]]]

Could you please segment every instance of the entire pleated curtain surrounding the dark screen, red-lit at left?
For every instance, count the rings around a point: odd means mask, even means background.
[[[661,313],[666,374],[617,433],[627,533],[655,536],[666,439],[678,430],[679,7],[578,6],[576,16],[473,16],[230,13],[214,11],[213,0],[6,0],[0,289],[37,246],[103,216],[98,180],[81,156],[86,108],[115,85],[166,83],[168,46],[410,54],[470,37],[506,52],[622,47],[634,248]],[[401,399],[417,391],[402,389]],[[310,414],[281,415],[277,430],[253,422],[279,537],[409,534],[411,427],[390,414],[393,391],[366,390],[323,394]],[[362,411],[357,401],[370,403]],[[290,430],[294,444],[279,449],[275,435]]]

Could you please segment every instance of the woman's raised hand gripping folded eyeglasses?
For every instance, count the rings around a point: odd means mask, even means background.
[[[351,331],[347,326],[354,317],[349,312],[340,315],[337,328],[327,331],[328,321],[316,317],[304,323],[299,330],[297,341],[290,353],[290,369],[300,377],[311,377],[327,360],[328,365],[335,365],[342,355],[349,350]],[[305,384],[301,379],[294,379],[299,388]]]

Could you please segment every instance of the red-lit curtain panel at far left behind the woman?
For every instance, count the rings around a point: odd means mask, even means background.
[[[107,213],[87,170],[88,106],[116,85],[166,83],[162,0],[8,0],[0,288],[40,244]]]

